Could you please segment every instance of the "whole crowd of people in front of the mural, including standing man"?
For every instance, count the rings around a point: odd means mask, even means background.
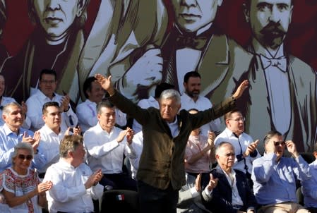
[[[265,135],[264,153],[244,132],[236,102],[248,80],[213,105],[200,95],[201,75],[188,72],[184,94],[162,83],[135,104],[97,74],[76,111],[56,94],[53,70],[42,70],[39,90],[21,104],[3,96],[0,80],[1,210],[95,212],[93,200],[116,189],[137,191],[140,212],[316,212],[316,162],[276,130]]]

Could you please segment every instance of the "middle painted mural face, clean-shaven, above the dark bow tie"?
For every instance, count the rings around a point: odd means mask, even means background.
[[[172,0],[177,25],[187,32],[212,23],[221,4],[222,0]]]

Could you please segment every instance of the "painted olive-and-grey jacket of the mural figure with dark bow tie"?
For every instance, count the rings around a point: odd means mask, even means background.
[[[175,60],[176,64],[177,35],[177,30],[172,28],[161,46],[163,79],[167,70],[177,72],[176,66],[170,66],[170,60]],[[217,28],[208,36],[196,71],[201,74],[201,95],[208,97],[212,102],[218,102],[231,95],[239,77],[249,71],[252,54]],[[177,83],[177,80],[174,80],[174,83]],[[177,90],[177,87],[175,89]]]

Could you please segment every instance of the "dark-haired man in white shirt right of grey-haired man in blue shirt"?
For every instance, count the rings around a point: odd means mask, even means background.
[[[38,170],[40,178],[44,178],[49,166],[59,161],[59,144],[68,135],[69,130],[61,128],[61,110],[59,103],[47,102],[43,105],[42,118],[45,123],[39,132],[41,133],[40,150],[44,154],[47,163]],[[80,133],[78,128],[73,128],[73,133]]]

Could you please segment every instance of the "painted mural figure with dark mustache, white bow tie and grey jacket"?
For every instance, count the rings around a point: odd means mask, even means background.
[[[312,150],[316,141],[316,74],[285,51],[293,7],[293,0],[247,0],[244,4],[253,35],[248,49],[254,59],[247,76],[241,76],[250,80],[249,96],[239,100],[238,106],[246,114],[246,131],[254,138],[278,130],[304,152]],[[256,125],[259,121],[261,127]]]

